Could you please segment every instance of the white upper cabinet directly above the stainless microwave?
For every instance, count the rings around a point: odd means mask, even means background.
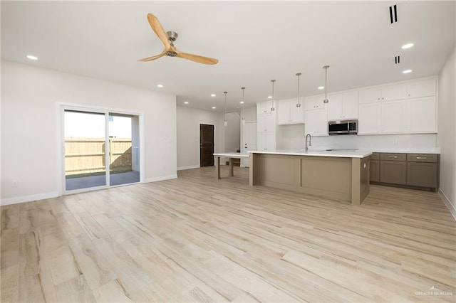
[[[358,91],[330,95],[328,101],[328,120],[358,118]]]

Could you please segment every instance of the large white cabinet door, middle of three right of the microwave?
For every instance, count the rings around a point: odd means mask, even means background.
[[[408,101],[382,102],[382,132],[402,133],[408,130]]]

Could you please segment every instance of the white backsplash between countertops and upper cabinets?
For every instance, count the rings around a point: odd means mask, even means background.
[[[305,147],[303,124],[281,125],[277,132],[277,149],[299,150]],[[435,149],[437,134],[333,135],[312,137],[312,149],[366,149],[398,151]]]

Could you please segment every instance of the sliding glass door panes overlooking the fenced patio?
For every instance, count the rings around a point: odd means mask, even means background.
[[[139,116],[63,110],[65,191],[140,182]]]

